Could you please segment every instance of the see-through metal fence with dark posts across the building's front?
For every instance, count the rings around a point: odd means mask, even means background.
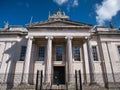
[[[0,74],[0,90],[120,90],[120,73],[114,74],[115,81],[112,74],[107,74],[109,88],[104,87],[102,75],[94,73],[94,83],[90,83],[89,74],[84,75],[80,71],[75,71],[75,74],[69,75],[71,82],[55,85],[45,82],[42,71],[37,71],[37,74],[29,74],[29,84],[21,83],[21,79],[25,79],[22,74]]]

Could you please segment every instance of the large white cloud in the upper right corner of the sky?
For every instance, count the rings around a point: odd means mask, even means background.
[[[120,0],[103,0],[101,5],[96,4],[96,20],[99,25],[110,21],[120,11]]]

